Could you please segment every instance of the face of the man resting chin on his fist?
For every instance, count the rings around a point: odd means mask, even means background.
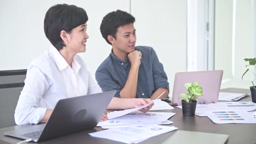
[[[112,46],[118,53],[130,53],[135,50],[136,29],[133,23],[121,26],[117,29]]]

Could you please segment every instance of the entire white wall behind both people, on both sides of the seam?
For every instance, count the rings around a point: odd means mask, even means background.
[[[50,46],[43,30],[46,11],[54,4],[74,4],[89,16],[89,40],[86,52],[80,53],[92,75],[109,55],[111,46],[100,33],[100,23],[110,11],[130,11],[136,18],[137,45],[152,46],[164,64],[170,82],[177,71],[186,70],[187,1],[185,0],[1,0],[0,1],[0,70],[27,69],[32,59]]]

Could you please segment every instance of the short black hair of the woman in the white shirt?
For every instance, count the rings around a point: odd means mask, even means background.
[[[73,28],[83,25],[88,16],[83,8],[75,5],[56,4],[49,8],[44,17],[44,33],[51,44],[59,51],[66,46],[60,37],[60,32],[70,33]]]

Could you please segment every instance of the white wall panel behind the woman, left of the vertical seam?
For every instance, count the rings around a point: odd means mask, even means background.
[[[104,15],[116,9],[129,11],[128,0],[109,1],[0,1],[1,53],[0,70],[27,69],[32,59],[38,57],[50,46],[45,37],[43,21],[46,11],[54,4],[74,4],[86,10],[89,16],[89,40],[86,52],[80,53],[94,72],[110,48],[100,34],[100,23]],[[93,73],[94,75],[94,73]]]

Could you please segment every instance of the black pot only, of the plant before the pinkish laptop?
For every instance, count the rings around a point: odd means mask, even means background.
[[[186,117],[195,116],[196,109],[196,100],[193,100],[192,103],[187,103],[185,100],[182,100],[182,112]]]

